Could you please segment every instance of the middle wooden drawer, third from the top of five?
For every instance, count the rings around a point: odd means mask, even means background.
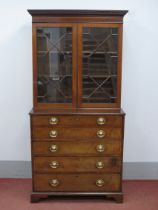
[[[120,155],[122,150],[121,141],[54,141],[32,142],[33,155],[47,156],[76,156],[76,155]]]

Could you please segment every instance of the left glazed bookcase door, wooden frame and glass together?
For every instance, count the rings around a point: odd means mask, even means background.
[[[34,106],[76,106],[76,25],[33,24]]]

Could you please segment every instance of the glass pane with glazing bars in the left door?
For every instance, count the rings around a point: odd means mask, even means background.
[[[72,103],[72,28],[37,29],[38,103]]]

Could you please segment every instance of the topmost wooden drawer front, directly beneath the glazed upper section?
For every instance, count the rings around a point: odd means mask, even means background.
[[[98,116],[32,116],[33,126],[121,126],[122,116],[98,115]]]

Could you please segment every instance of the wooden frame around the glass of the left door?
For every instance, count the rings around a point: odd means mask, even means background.
[[[37,100],[37,28],[72,27],[72,103],[39,103]],[[32,24],[33,52],[33,105],[35,110],[68,109],[77,106],[77,24],[75,23],[33,23]]]

